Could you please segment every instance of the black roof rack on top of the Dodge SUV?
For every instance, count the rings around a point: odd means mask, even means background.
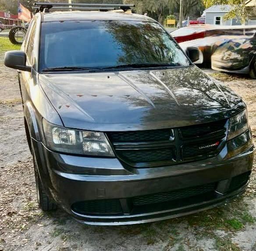
[[[134,4],[114,4],[114,3],[34,3],[34,6],[39,7],[37,11],[43,12],[45,8],[47,9],[52,9],[53,7],[58,7],[58,6],[68,6],[68,10],[72,10],[74,7],[92,7],[96,8],[96,10],[113,10],[116,8],[119,8],[121,10],[127,11],[130,10],[131,7],[135,7]],[[62,8],[61,8],[62,9]]]

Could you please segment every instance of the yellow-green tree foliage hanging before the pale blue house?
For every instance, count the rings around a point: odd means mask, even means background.
[[[252,12],[256,12],[256,6],[246,8],[246,0],[203,0],[203,4],[206,8],[211,7],[214,4],[228,4],[231,6],[231,10],[224,15],[224,20],[229,20],[231,18],[241,19],[242,23],[245,23],[248,16]]]

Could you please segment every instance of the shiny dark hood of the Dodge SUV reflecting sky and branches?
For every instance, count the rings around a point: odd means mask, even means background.
[[[196,66],[170,70],[39,74],[64,126],[124,131],[228,118],[241,98]]]

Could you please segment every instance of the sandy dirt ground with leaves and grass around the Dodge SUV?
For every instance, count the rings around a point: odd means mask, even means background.
[[[17,74],[0,54],[0,250],[252,251],[256,250],[256,179],[245,195],[202,213],[121,227],[83,226],[58,209],[37,206],[32,159],[23,126]],[[256,137],[256,80],[214,73],[248,105]]]

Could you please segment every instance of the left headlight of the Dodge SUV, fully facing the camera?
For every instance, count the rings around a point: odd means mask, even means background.
[[[79,131],[50,124],[43,119],[46,145],[50,150],[92,156],[114,157],[103,132]]]

